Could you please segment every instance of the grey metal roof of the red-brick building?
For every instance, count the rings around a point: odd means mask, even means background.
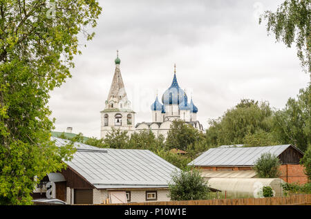
[[[256,147],[223,147],[209,149],[188,165],[194,166],[253,166],[263,153],[279,156],[290,144]]]

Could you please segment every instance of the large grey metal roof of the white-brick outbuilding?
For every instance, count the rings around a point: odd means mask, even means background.
[[[68,141],[52,137],[57,146]],[[75,142],[77,152],[68,166],[97,189],[168,187],[171,173],[179,170],[148,150],[100,149]]]

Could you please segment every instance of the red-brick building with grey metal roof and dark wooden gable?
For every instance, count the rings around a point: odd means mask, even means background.
[[[285,182],[304,184],[308,178],[299,164],[303,152],[292,144],[243,147],[224,145],[209,149],[189,163],[202,170],[205,178],[256,178],[253,166],[263,153],[276,155],[281,161],[281,178]]]

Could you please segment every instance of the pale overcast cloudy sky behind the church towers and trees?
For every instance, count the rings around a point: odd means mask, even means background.
[[[115,70],[116,50],[135,124],[151,122],[150,106],[176,77],[198,107],[204,128],[241,99],[284,108],[308,84],[296,48],[268,35],[265,10],[283,0],[100,0],[92,41],[79,36],[72,78],[50,93],[55,130],[100,137],[100,111]],[[86,47],[83,45],[86,43]]]

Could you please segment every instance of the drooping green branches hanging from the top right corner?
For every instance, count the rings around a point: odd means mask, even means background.
[[[289,48],[296,44],[303,69],[311,73],[310,0],[285,0],[276,12],[265,11],[263,19],[267,20],[267,32],[273,32],[276,41],[283,41]]]

